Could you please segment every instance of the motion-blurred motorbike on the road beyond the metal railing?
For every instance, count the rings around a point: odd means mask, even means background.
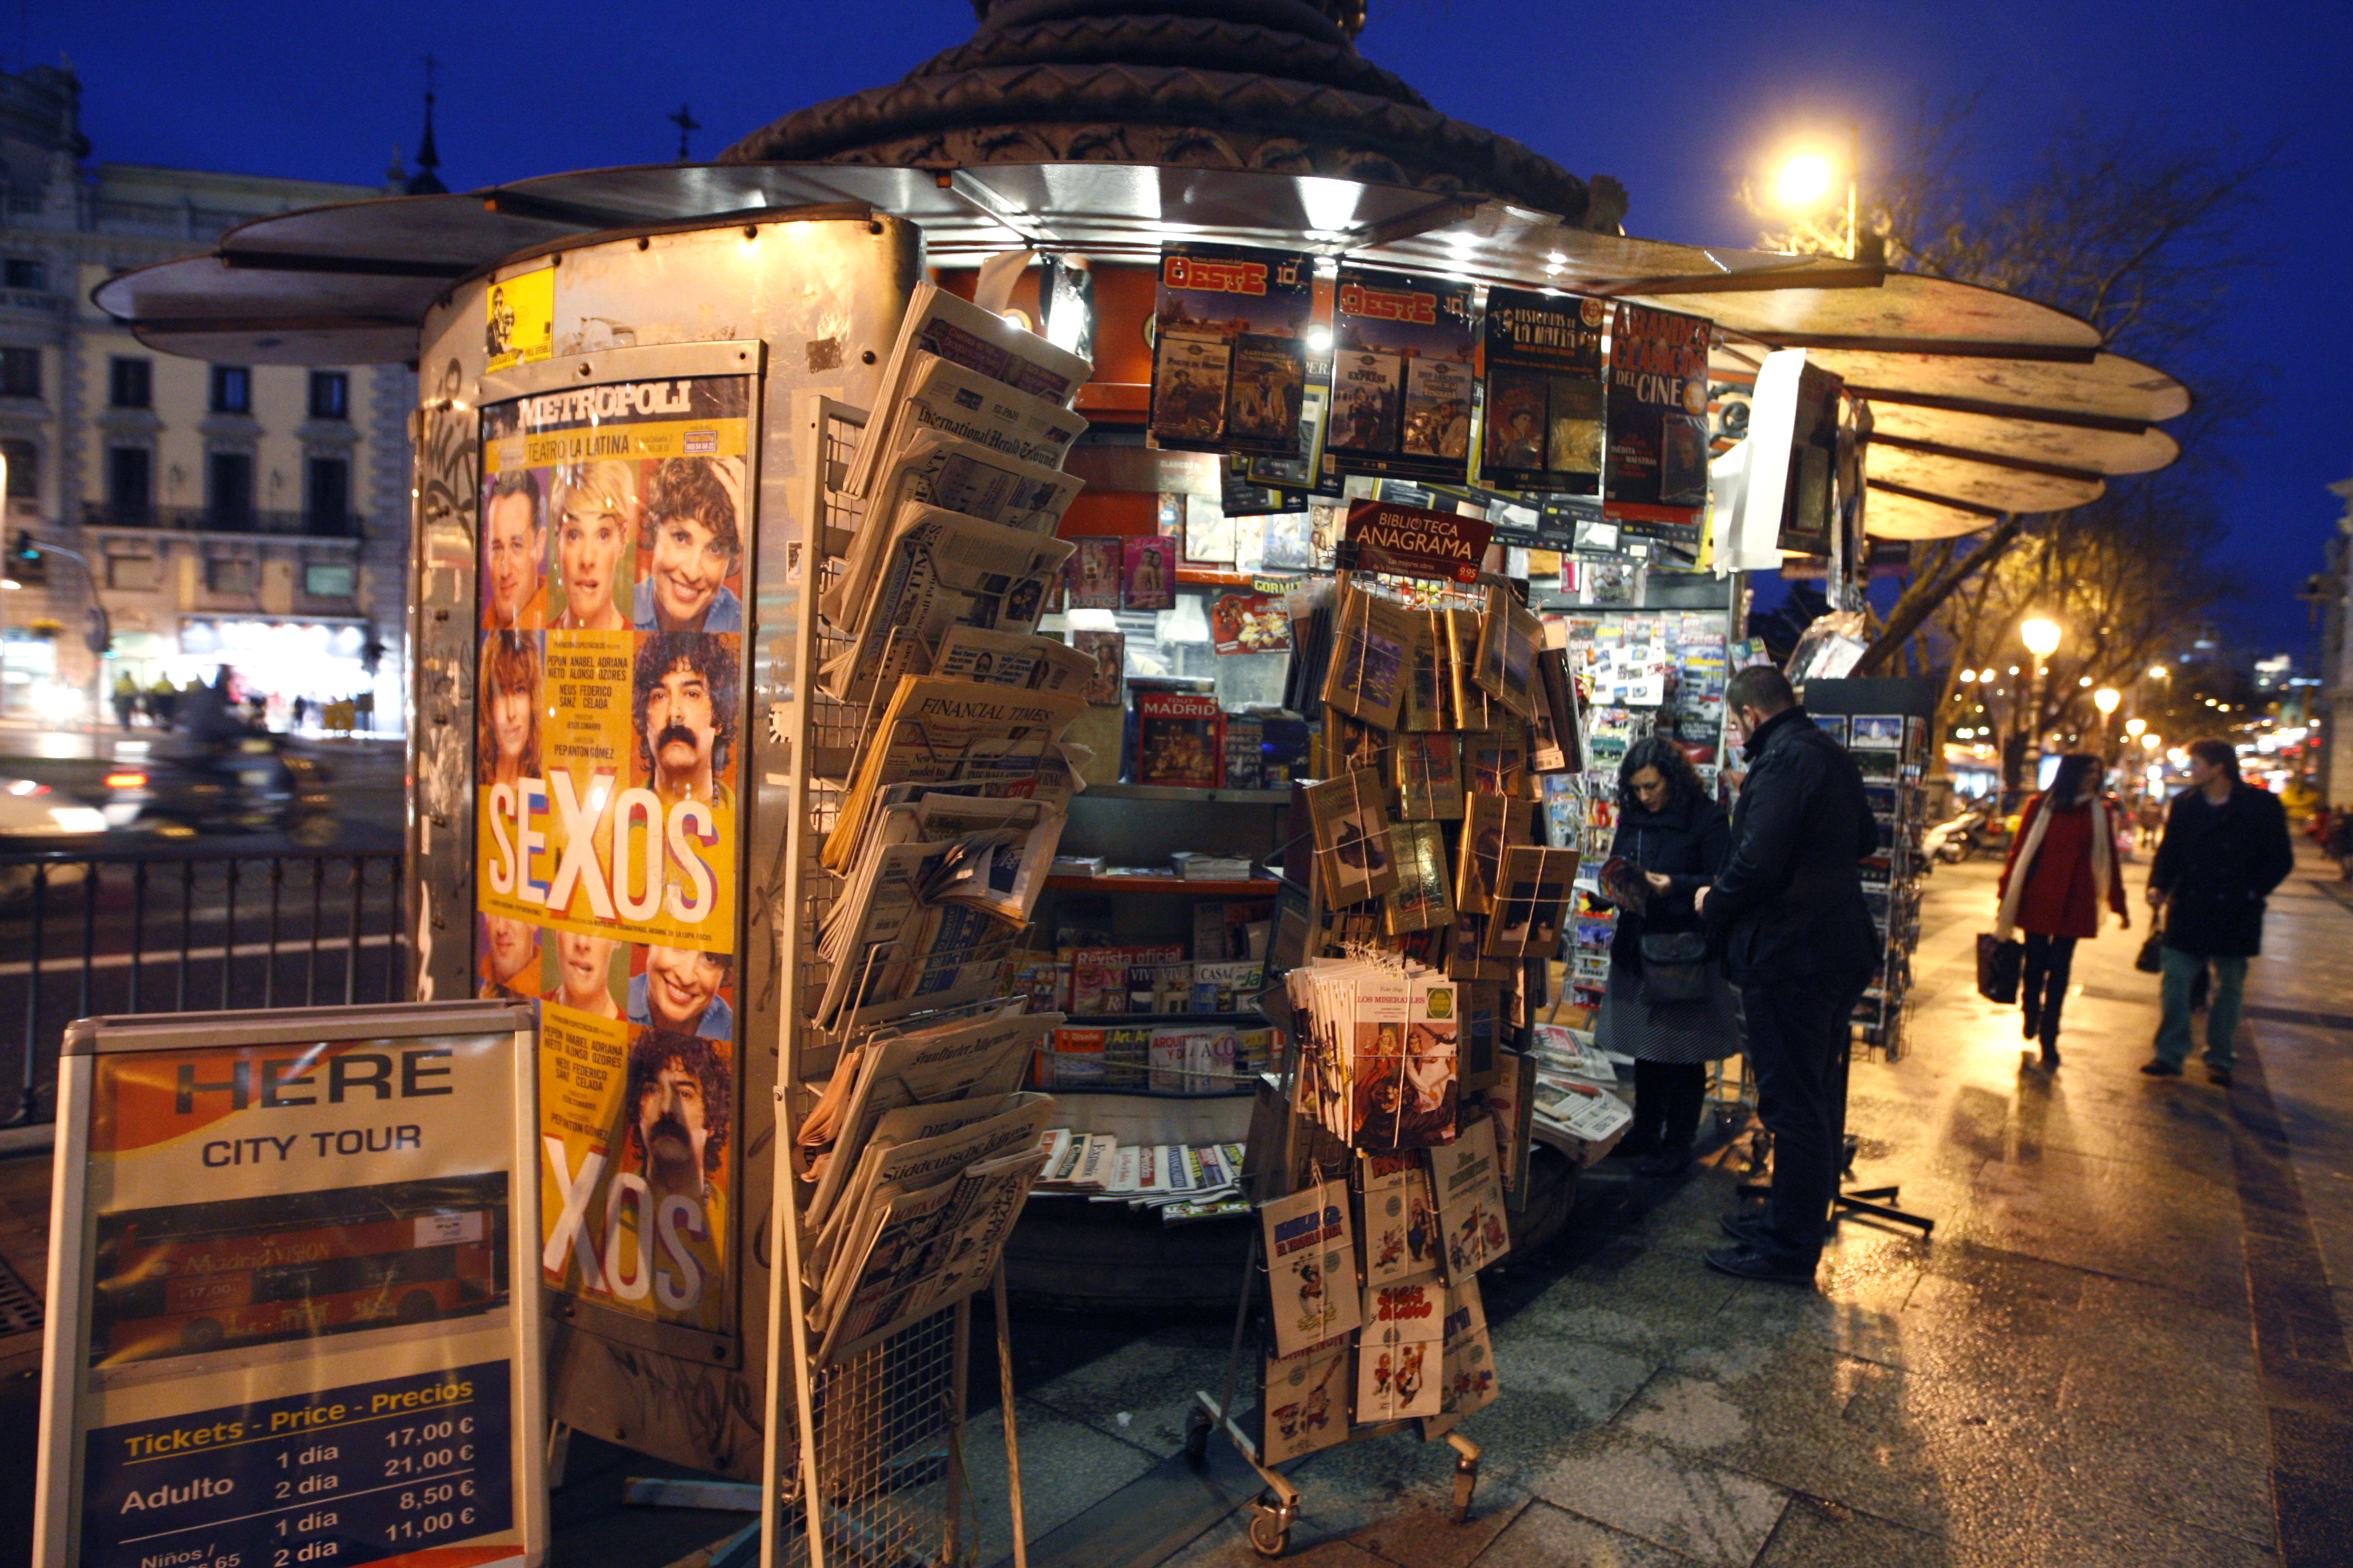
[[[167,835],[275,830],[299,849],[325,849],[339,830],[327,769],[273,731],[219,743],[174,736],[148,766],[106,773],[106,790],[108,816]]]

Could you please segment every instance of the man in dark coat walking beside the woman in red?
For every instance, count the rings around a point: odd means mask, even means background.
[[[2297,865],[2287,809],[2238,776],[2228,741],[2191,741],[2191,788],[2165,813],[2148,903],[2165,914],[2165,1020],[2148,1077],[2177,1079],[2191,1056],[2191,983],[2214,966],[2207,1079],[2231,1081],[2247,959],[2264,947],[2264,900]]]

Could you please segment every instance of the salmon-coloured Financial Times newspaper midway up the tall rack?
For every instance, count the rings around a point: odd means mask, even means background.
[[[1061,738],[1087,703],[1054,691],[1012,691],[981,682],[904,675],[864,748],[826,835],[824,865],[845,872],[856,853],[875,792],[892,783],[953,783],[967,762],[981,773],[1014,773],[1014,752],[1045,766],[1047,745]]]

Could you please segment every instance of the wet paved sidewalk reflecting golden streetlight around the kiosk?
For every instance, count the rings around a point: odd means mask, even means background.
[[[1732,1281],[1699,1255],[1720,1246],[1744,1143],[1680,1182],[1605,1166],[1553,1248],[1489,1274],[1504,1396],[1464,1427],[1485,1446],[1471,1519],[1447,1519],[1442,1443],[1353,1443],[1294,1467],[1287,1561],[2353,1561],[2353,891],[2318,856],[2280,889],[2219,1088],[2195,1063],[2139,1072],[2158,1023],[2139,924],[2078,952],[2066,1063],[2035,1067],[2017,1011],[1974,990],[1993,872],[1932,877],[1908,1051],[1854,1065],[1859,1185],[1901,1185],[1932,1239],[1845,1220],[1819,1291]],[[2144,875],[2127,867],[2134,898]],[[19,1215],[24,1187],[0,1192]],[[1073,1335],[1016,1312],[1035,1568],[1264,1561],[1235,1512],[1257,1479],[1231,1448],[1212,1443],[1207,1474],[1172,1458],[1228,1331]],[[993,1387],[976,1366],[974,1389]],[[993,1410],[967,1460],[988,1563],[1009,1540]],[[619,1479],[659,1469],[576,1450],[553,1561],[652,1568],[734,1526],[619,1512]]]

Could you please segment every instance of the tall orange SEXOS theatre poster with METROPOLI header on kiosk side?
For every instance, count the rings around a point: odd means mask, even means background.
[[[546,1284],[729,1331],[751,378],[482,409],[475,898],[539,1006]]]

